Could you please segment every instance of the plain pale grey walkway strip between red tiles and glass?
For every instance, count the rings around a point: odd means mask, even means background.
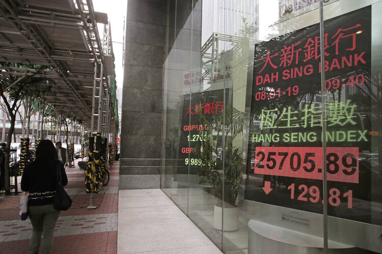
[[[161,189],[119,191],[119,254],[219,254]]]

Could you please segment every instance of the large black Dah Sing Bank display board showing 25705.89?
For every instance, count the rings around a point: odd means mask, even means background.
[[[322,213],[325,137],[329,215],[371,223],[375,211],[368,204],[375,165],[367,158],[375,151],[371,137],[378,135],[370,123],[370,98],[376,91],[370,81],[371,7],[326,20],[324,25],[324,38],[315,24],[255,47],[252,163],[245,199]],[[382,219],[379,222],[373,224],[382,225]]]

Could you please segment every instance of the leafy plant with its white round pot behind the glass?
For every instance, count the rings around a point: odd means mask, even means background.
[[[208,127],[199,131],[202,141],[197,143],[194,152],[201,160],[199,175],[207,179],[211,194],[216,198],[214,228],[222,230],[224,208],[224,231],[237,230],[239,224],[236,199],[240,185],[242,150],[241,147],[233,146],[233,140],[242,134],[244,113],[226,106],[224,114],[210,116],[199,111],[196,116],[201,124]],[[213,152],[217,154],[218,147],[213,144],[217,144],[219,138],[224,140],[223,149],[220,157],[214,158]]]

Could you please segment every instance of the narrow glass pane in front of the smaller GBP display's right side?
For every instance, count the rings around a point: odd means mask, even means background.
[[[213,20],[220,19],[216,1],[193,1],[193,58],[190,77],[190,130],[186,133],[189,147],[188,216],[220,248],[222,247],[222,172],[218,149],[222,146],[217,124],[223,114],[222,84],[212,87],[212,51],[222,52],[213,39]],[[203,11],[202,11],[203,10]],[[215,63],[217,65],[217,63]],[[217,68],[217,67],[216,67]],[[223,81],[223,79],[222,79]]]

